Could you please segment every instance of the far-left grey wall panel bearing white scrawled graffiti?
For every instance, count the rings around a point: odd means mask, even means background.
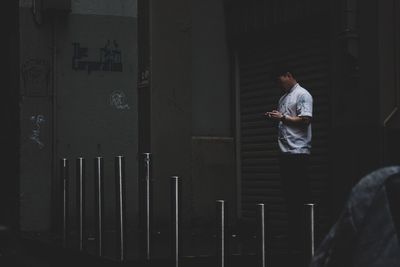
[[[51,27],[20,9],[20,224],[49,229],[53,161]]]

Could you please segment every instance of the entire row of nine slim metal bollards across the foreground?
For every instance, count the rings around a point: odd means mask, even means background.
[[[151,153],[143,153],[144,173],[142,182],[143,212],[141,213],[141,225],[144,235],[142,242],[144,243],[144,257],[146,260],[151,259],[151,226],[152,226],[152,184],[151,184]],[[67,247],[68,233],[68,182],[69,182],[69,166],[68,160],[61,160],[61,178],[62,178],[62,244]],[[85,159],[78,158],[76,160],[76,181],[77,181],[77,211],[78,211],[78,236],[79,250],[85,250]],[[117,213],[117,257],[118,260],[126,259],[126,207],[125,207],[125,159],[123,156],[115,157],[115,182],[116,182],[116,213]],[[104,255],[103,238],[104,238],[104,159],[96,157],[94,159],[94,180],[95,180],[95,214],[96,214],[96,254],[99,257]],[[172,225],[172,251],[171,257],[174,266],[179,266],[180,260],[180,228],[181,228],[181,181],[178,176],[171,177],[171,225]],[[227,204],[225,200],[217,200],[217,260],[218,267],[227,266],[229,250],[227,248]],[[314,204],[305,204],[306,210],[306,233],[307,233],[307,254],[309,258],[314,255]],[[257,262],[258,266],[266,267],[266,220],[265,205],[257,204]]]

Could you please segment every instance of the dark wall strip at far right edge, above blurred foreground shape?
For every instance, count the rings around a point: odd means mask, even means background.
[[[383,164],[400,162],[400,4],[378,2],[380,127],[383,136]]]

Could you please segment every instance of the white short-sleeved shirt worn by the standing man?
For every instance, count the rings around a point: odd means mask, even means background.
[[[312,117],[312,109],[311,94],[298,83],[279,99],[278,111],[287,116]],[[279,122],[278,143],[283,153],[310,154],[311,123],[293,126]]]

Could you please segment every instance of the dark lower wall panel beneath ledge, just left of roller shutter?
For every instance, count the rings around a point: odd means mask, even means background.
[[[193,227],[214,225],[218,199],[227,202],[229,223],[234,225],[237,195],[233,138],[194,137],[192,144]]]

